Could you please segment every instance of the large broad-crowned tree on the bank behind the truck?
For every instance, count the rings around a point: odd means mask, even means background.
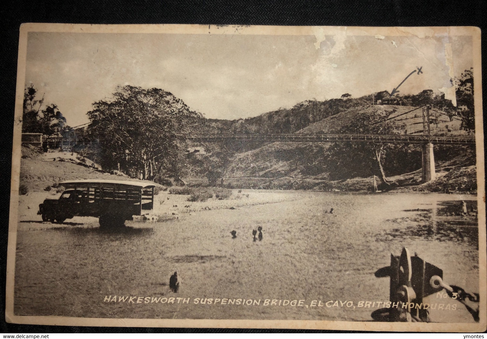
[[[178,174],[178,142],[202,115],[163,89],[117,87],[110,100],[88,112],[104,166],[139,172],[152,180],[161,172]]]

